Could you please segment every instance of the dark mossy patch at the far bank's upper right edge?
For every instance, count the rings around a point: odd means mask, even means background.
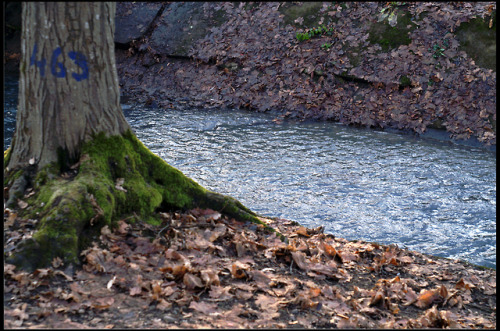
[[[492,27],[489,27],[490,19]],[[462,23],[455,31],[460,41],[460,50],[465,51],[480,67],[496,72],[496,11],[491,17],[476,18]]]

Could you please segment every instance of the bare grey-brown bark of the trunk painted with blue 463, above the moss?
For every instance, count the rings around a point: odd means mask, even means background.
[[[119,102],[115,10],[108,2],[23,2],[10,169],[33,161],[40,168],[63,161],[61,155],[77,160],[79,147],[94,134],[129,129]]]

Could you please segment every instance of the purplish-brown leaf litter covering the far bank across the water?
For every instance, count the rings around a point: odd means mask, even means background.
[[[165,109],[273,111],[277,124],[317,119],[417,134],[437,127],[453,139],[496,144],[496,70],[460,50],[455,33],[474,18],[492,22],[495,2],[395,3],[414,28],[409,44],[389,50],[372,40],[367,24],[388,13],[389,2],[325,3],[317,15],[331,35],[305,42],[296,38],[308,30],[305,17],[284,22],[279,9],[289,5],[204,3],[207,16],[212,8],[227,19],[193,44],[190,61],[175,61],[161,49],[134,56],[117,50],[123,93]]]

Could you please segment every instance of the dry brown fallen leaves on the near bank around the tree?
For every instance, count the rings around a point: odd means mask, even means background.
[[[22,237],[12,214],[4,235]],[[213,210],[162,217],[103,227],[73,272],[4,263],[4,327],[496,327],[492,269],[283,219],[262,218],[288,242]]]

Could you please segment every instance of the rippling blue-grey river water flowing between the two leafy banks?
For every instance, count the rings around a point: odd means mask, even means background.
[[[4,149],[16,91],[7,81]],[[261,215],[496,268],[496,153],[271,114],[123,108],[154,153]]]

